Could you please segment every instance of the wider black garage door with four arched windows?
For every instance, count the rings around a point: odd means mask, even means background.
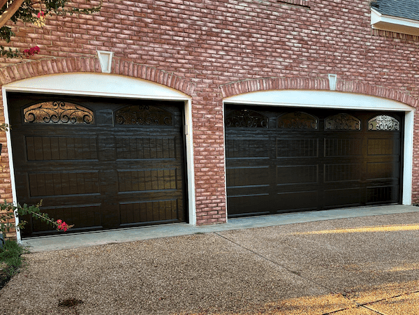
[[[400,112],[226,105],[229,217],[399,203]]]

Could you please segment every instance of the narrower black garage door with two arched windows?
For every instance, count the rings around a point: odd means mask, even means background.
[[[7,97],[20,204],[73,231],[185,221],[182,102]],[[23,236],[54,233],[24,219]]]

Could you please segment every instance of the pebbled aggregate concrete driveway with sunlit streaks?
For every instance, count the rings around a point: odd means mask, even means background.
[[[0,314],[419,314],[419,212],[26,255]]]

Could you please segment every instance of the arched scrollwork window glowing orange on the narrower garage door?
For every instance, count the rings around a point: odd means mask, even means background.
[[[94,124],[94,112],[64,101],[30,105],[23,110],[25,124]]]

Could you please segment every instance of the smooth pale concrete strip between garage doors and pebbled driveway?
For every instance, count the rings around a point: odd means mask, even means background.
[[[419,212],[419,207],[409,205],[383,205],[376,207],[353,207],[337,210],[272,214],[260,217],[228,219],[227,224],[214,224],[210,226],[192,226],[184,223],[164,224],[159,226],[124,228],[89,233],[32,237],[22,240],[22,244],[29,247],[29,251],[31,252],[54,251],[101,244],[149,240],[159,237],[190,235],[194,233],[212,233],[222,230],[240,230],[244,228],[263,228],[267,226],[281,226],[286,224],[355,217],[371,217],[406,212]]]

